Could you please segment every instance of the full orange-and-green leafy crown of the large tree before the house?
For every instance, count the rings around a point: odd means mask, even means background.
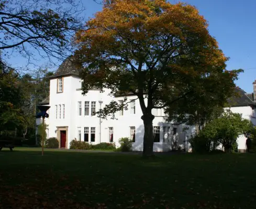
[[[175,82],[180,88],[224,72],[227,57],[194,6],[165,0],[108,2],[86,22],[86,31],[76,33],[85,91],[90,85],[149,92],[154,84]]]

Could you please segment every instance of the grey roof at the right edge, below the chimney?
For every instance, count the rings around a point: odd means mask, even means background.
[[[253,95],[247,94],[246,91],[236,87],[235,92],[237,96],[233,96],[228,99],[229,105],[231,107],[237,106],[256,106],[256,103],[253,102]]]

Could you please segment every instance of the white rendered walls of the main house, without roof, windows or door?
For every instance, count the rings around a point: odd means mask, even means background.
[[[81,140],[84,141],[84,127],[95,127],[95,142],[93,144],[100,143],[99,134],[101,132],[101,142],[109,142],[108,128],[113,127],[114,129],[114,142],[118,145],[118,140],[121,137],[130,136],[130,126],[136,127],[136,142],[133,143],[133,150],[142,151],[143,149],[143,121],[141,120],[141,108],[139,101],[135,101],[136,113],[132,114],[130,104],[128,110],[124,110],[123,115],[119,115],[117,112],[116,118],[118,120],[102,120],[101,130],[99,130],[99,118],[91,115],[91,102],[96,102],[96,111],[99,110],[99,101],[103,101],[102,108],[107,105],[110,101],[124,100],[124,97],[114,98],[109,96],[109,90],[105,92],[99,92],[98,90],[90,90],[86,95],[82,95],[81,79],[73,76],[63,78],[63,92],[57,93],[57,78],[51,79],[50,81],[50,112],[49,112],[49,137],[57,137],[57,127],[68,126],[68,147],[72,140],[77,139],[77,127],[81,127]],[[136,96],[128,96],[127,101],[136,99]],[[82,115],[78,114],[78,102],[82,103]],[[90,101],[90,115],[84,115],[84,102]],[[147,101],[146,101],[147,102]],[[65,105],[65,118],[59,119],[55,117],[55,105]],[[157,112],[158,111],[158,112]],[[191,135],[191,131],[184,132],[183,125],[172,126],[165,122],[164,113],[162,110],[153,110],[155,118],[153,120],[153,126],[160,126],[160,142],[154,143],[153,150],[155,152],[163,152],[171,150],[172,130],[173,127],[177,128],[176,134],[176,148],[187,148],[188,143],[187,136]],[[170,140],[163,142],[163,126],[170,126]],[[90,142],[90,134],[89,134]]]

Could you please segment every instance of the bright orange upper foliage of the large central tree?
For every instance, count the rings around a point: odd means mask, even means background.
[[[169,36],[183,49],[201,44],[200,53],[204,53],[205,64],[224,66],[227,61],[218,49],[217,41],[208,32],[207,21],[194,6],[173,5],[164,0],[112,2],[105,4],[102,11],[87,21],[86,31],[76,33],[80,54],[87,57],[88,62],[102,53],[116,56],[118,50],[120,54],[126,51],[128,59],[138,60],[132,56],[132,51],[152,52],[150,48],[164,45],[164,38]]]

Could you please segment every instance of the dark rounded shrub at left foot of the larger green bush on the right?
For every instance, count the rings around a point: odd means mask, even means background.
[[[190,144],[192,146],[193,153],[208,153],[210,152],[210,147],[212,141],[203,136],[194,136],[190,139]]]

